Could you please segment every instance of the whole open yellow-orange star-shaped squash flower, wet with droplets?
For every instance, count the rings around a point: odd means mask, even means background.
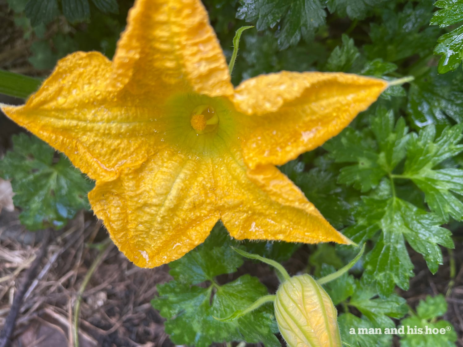
[[[350,243],[275,165],[337,135],[387,82],[341,73],[261,75],[233,88],[200,0],[138,0],[113,61],[60,60],[15,122],[96,180],[114,243],[154,267],[220,219],[242,240]]]

